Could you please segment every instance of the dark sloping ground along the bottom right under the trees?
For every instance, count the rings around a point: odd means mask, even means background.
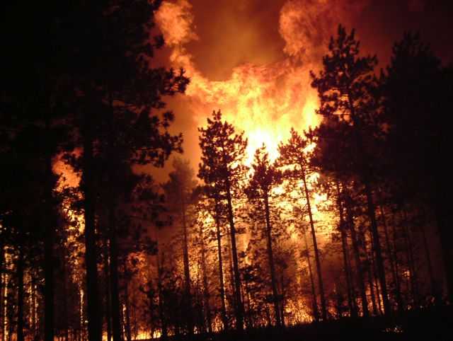
[[[177,340],[170,338],[170,340]],[[442,340],[453,341],[453,306],[408,311],[393,320],[345,318],[289,328],[246,330],[243,335],[222,333],[194,335],[193,341],[336,341],[336,340]]]

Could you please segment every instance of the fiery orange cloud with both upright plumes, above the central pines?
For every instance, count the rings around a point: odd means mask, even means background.
[[[309,85],[309,70],[318,67],[321,59],[315,57],[325,52],[326,39],[335,31],[328,8],[322,0],[287,1],[280,11],[280,26],[276,28],[285,43],[280,60],[267,64],[243,62],[233,67],[226,79],[213,81],[200,71],[187,47],[190,42],[200,40],[195,32],[193,6],[187,0],[164,1],[156,13],[156,22],[166,46],[171,48],[171,64],[183,67],[190,77],[186,96],[181,100],[192,118],[185,130],[185,137],[190,141],[189,148],[185,144],[185,151],[193,159],[200,155],[194,148],[197,133],[194,128],[205,125],[212,110],[222,110],[226,120],[239,131],[245,131],[249,161],[263,143],[271,158],[276,158],[277,145],[289,137],[291,127],[302,130],[319,123],[314,113],[317,96]],[[319,30],[321,19],[325,23]],[[245,30],[247,35],[253,35],[252,28]],[[219,40],[224,38],[222,31],[218,35]],[[234,36],[228,38],[237,40]],[[250,50],[254,52],[253,47]]]

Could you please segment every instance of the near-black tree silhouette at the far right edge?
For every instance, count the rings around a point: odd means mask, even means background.
[[[419,200],[435,212],[450,300],[453,272],[448,264],[453,258],[446,243],[451,233],[445,225],[449,220],[443,185],[447,174],[441,166],[449,134],[442,120],[433,120],[432,115],[451,105],[447,94],[451,75],[419,34],[406,33],[395,43],[391,62],[380,79],[388,125],[387,176],[396,197],[404,197],[406,202]]]

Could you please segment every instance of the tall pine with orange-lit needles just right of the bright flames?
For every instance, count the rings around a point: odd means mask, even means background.
[[[343,26],[338,26],[338,36],[331,38],[329,53],[323,57],[323,70],[319,76],[311,72],[311,86],[317,89],[321,106],[317,112],[326,120],[345,120],[350,125],[355,167],[365,187],[367,214],[369,217],[373,249],[376,255],[377,272],[382,289],[384,311],[391,313],[387,294],[384,261],[379,241],[374,205],[372,181],[376,177],[372,168],[372,146],[379,134],[377,105],[374,88],[377,79],[373,74],[377,58],[358,57],[360,42],[355,40],[355,32],[347,34]]]

